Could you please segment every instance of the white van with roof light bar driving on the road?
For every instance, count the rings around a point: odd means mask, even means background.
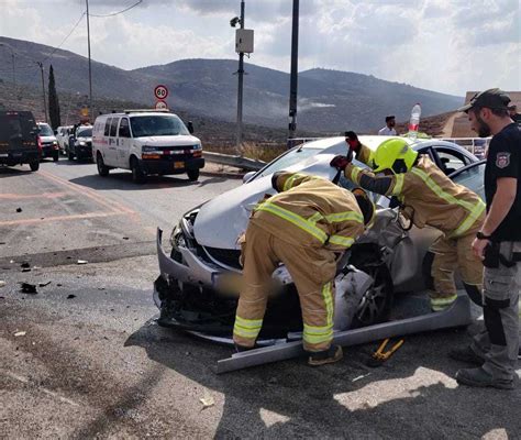
[[[125,110],[96,118],[92,157],[100,176],[112,168],[132,170],[132,180],[144,183],[149,174],[182,174],[199,178],[204,166],[201,141],[193,128],[168,111]]]

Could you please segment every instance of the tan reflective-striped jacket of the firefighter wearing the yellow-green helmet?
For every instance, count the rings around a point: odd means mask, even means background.
[[[356,158],[373,167],[373,152],[367,146],[361,146]],[[344,173],[367,190],[398,197],[403,213],[418,228],[428,224],[448,238],[457,238],[478,230],[484,221],[485,204],[480,197],[452,182],[428,155],[419,156],[412,168],[402,174],[375,176],[353,164]]]

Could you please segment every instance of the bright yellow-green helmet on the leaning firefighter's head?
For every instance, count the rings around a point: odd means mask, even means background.
[[[374,172],[379,173],[390,169],[395,174],[406,173],[411,169],[418,152],[412,150],[403,139],[388,139],[375,152]]]

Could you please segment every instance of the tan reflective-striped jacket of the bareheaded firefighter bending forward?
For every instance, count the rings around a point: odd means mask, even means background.
[[[300,246],[343,252],[364,232],[364,218],[352,193],[321,177],[278,173],[279,194],[254,209],[251,222]]]

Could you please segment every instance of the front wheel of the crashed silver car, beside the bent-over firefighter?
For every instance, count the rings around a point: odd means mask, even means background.
[[[389,268],[385,263],[356,267],[369,275],[374,282],[358,304],[352,328],[367,327],[386,321],[389,317],[393,297]]]

